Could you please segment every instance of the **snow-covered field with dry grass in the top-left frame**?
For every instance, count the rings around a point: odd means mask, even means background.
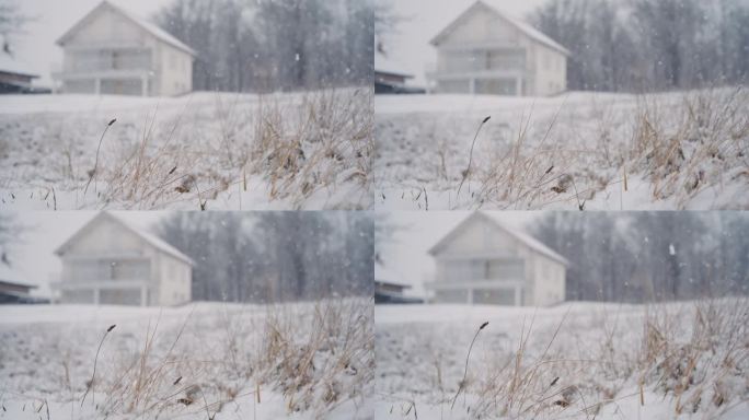
[[[5,95],[0,209],[370,208],[371,96]]]

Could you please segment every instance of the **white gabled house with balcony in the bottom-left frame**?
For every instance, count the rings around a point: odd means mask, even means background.
[[[55,252],[61,303],[170,306],[191,301],[193,261],[159,237],[102,212]]]

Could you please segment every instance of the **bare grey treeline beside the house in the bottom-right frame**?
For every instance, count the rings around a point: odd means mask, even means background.
[[[749,293],[744,212],[549,212],[532,232],[571,261],[569,300]]]

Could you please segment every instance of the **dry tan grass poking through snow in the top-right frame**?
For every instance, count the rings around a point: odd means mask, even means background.
[[[464,172],[454,207],[585,210],[611,186],[619,186],[623,206],[637,178],[649,184],[652,200],[682,209],[707,188],[749,183],[749,92],[742,88],[642,95],[632,105],[613,105],[595,108],[583,129],[573,126],[578,121],[565,105],[551,116],[531,110],[514,137],[488,139],[477,160],[474,141],[473,190],[460,195]],[[439,155],[447,153],[436,153],[445,167]]]

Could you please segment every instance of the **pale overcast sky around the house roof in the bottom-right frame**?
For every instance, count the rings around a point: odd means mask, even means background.
[[[411,284],[408,294],[422,296],[424,281],[434,279],[435,262],[427,250],[442,236],[471,214],[469,211],[391,212],[388,223],[399,226],[391,241],[378,249],[384,260],[385,280]],[[535,211],[503,211],[503,221],[511,228],[525,230]]]

